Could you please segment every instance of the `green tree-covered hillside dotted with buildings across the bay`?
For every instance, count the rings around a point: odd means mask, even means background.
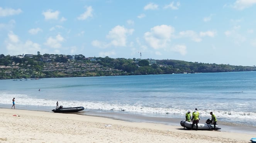
[[[65,64],[70,67],[68,63],[73,63],[76,70],[58,71],[57,69],[56,71],[47,71],[44,69],[49,63],[41,62],[42,56],[47,57],[49,54],[40,55],[38,52],[33,57],[24,58],[1,54],[0,79],[256,71],[255,66],[218,65],[215,63],[185,62],[181,60],[154,60],[155,62],[151,64],[150,61],[152,60],[149,59],[85,58],[83,55],[74,56],[75,60],[70,60],[69,56],[55,55],[56,58],[53,58],[51,63],[63,63],[62,68],[66,68]],[[86,67],[81,67],[83,63],[87,65],[101,65],[101,67],[86,70]],[[7,66],[9,67],[7,68]],[[81,70],[77,70],[77,68],[81,68]]]

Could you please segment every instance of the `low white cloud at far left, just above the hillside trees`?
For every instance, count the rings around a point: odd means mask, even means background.
[[[27,40],[22,42],[18,35],[15,35],[12,31],[8,33],[8,38],[5,40],[5,45],[8,53],[11,55],[18,55],[22,53],[36,53],[41,50],[39,44]]]

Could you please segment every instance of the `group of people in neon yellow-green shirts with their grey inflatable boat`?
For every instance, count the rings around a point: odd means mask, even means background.
[[[210,112],[210,115],[212,116],[212,119],[211,120],[208,119],[205,122],[205,124],[200,124],[199,130],[220,130],[221,129],[219,128],[219,126],[217,126],[216,116],[212,112]],[[192,113],[192,116],[191,116],[190,110],[188,110],[188,112],[186,113],[186,120],[181,121],[180,124],[184,128],[188,128],[190,130],[193,130],[193,129],[198,130],[199,120],[200,120],[200,114],[197,111],[197,108],[195,108],[195,110]]]

